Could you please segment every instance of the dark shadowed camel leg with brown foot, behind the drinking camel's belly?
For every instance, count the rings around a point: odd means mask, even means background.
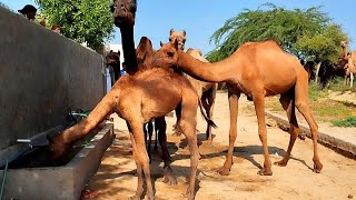
[[[167,184],[177,184],[177,179],[174,171],[170,168],[170,156],[167,147],[167,123],[165,117],[156,119],[156,126],[158,127],[158,140],[162,150],[162,160],[165,162],[164,167],[164,182]]]

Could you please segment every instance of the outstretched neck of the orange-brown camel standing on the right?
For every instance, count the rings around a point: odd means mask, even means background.
[[[221,82],[228,80],[230,77],[230,70],[228,60],[210,63],[202,62],[194,57],[178,51],[178,69],[182,70],[187,74],[195,79],[209,82]]]

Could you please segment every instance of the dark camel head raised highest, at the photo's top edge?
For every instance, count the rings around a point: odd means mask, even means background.
[[[113,0],[110,10],[115,26],[119,28],[122,26],[134,27],[137,10],[136,0]]]

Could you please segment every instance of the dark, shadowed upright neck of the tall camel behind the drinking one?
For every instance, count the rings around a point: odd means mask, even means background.
[[[126,71],[132,74],[138,69],[137,56],[135,51],[134,27],[120,28],[122,51],[126,64]]]

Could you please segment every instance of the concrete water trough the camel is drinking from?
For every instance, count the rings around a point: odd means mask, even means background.
[[[23,158],[16,161],[17,163],[9,164],[3,199],[79,199],[113,138],[113,124],[102,123],[90,133],[89,138],[75,144],[72,156],[60,164],[43,162],[43,159],[39,158],[43,153],[28,153],[30,159]],[[4,169],[0,170],[0,180],[3,180],[3,172]]]

